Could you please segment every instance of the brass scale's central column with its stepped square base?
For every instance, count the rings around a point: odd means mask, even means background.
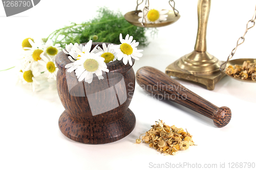
[[[195,50],[174,63],[168,65],[165,73],[206,85],[208,90],[214,90],[226,74],[220,70],[223,63],[206,51],[206,28],[210,13],[211,0],[198,1],[198,33]]]

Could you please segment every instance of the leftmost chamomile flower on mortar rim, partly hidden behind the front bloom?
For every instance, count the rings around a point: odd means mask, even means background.
[[[77,45],[73,45],[72,48],[70,49],[70,52],[69,52],[70,56],[68,58],[70,59],[70,61],[72,61],[72,63],[69,63],[65,66],[65,68],[69,68],[68,72],[72,72],[78,67],[77,65],[74,65],[74,62],[78,59],[78,57],[80,57],[79,53],[90,52],[92,48],[92,40],[90,40],[84,46],[80,46],[80,45],[77,46]],[[97,46],[98,45],[96,45],[90,53],[93,53],[96,50]]]

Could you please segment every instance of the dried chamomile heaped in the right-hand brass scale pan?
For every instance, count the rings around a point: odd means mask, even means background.
[[[243,65],[229,65],[226,68],[226,74],[232,75],[234,78],[240,78],[242,80],[256,81],[256,60],[253,63],[250,61],[244,61]]]

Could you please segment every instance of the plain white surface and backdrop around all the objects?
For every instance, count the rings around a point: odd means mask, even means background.
[[[158,3],[160,8],[167,8],[167,1],[162,2],[162,6]],[[154,3],[156,1],[151,1],[152,5]],[[12,17],[5,17],[4,8],[0,5],[0,70],[14,65],[22,52],[24,38],[47,37],[54,30],[69,25],[69,21],[79,23],[88,20],[96,15],[99,6],[120,9],[125,14],[134,10],[135,5],[136,0],[90,3],[45,0]],[[143,48],[143,57],[133,67],[135,71],[142,66],[164,71],[168,64],[194,50],[197,1],[176,1],[176,8],[181,15],[176,23],[159,28],[155,38],[147,33],[151,43]],[[243,35],[254,9],[253,0],[212,1],[207,51],[220,60],[226,60],[237,39]],[[255,58],[255,37],[256,28],[252,28],[234,59]],[[74,142],[60,132],[58,118],[64,109],[57,91],[45,89],[33,93],[27,86],[16,85],[15,71],[0,72],[0,169],[150,169],[150,162],[217,164],[218,167],[225,163],[227,168],[229,162],[256,163],[254,83],[225,77],[215,90],[209,91],[203,85],[177,79],[216,106],[231,109],[231,121],[224,128],[216,128],[211,119],[175,103],[152,99],[136,83],[130,105],[137,121],[133,132],[113,143],[88,145]],[[187,129],[197,146],[178,152],[176,156],[163,156],[145,143],[133,144],[158,119],[163,119],[167,125]]]

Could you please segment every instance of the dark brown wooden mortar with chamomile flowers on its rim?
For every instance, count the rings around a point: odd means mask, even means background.
[[[92,49],[97,44],[102,48],[102,43],[95,42]],[[128,108],[135,88],[132,66],[122,61],[106,63],[110,72],[102,72],[103,80],[94,74],[88,84],[79,82],[74,71],[66,72],[65,65],[71,61],[65,53],[60,52],[55,62],[59,68],[57,90],[65,108],[59,128],[65,136],[81,143],[103,144],[132,132],[136,123],[134,113]]]

